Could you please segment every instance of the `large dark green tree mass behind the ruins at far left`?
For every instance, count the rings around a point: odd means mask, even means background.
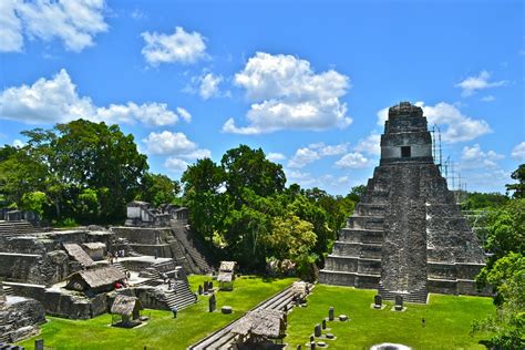
[[[28,138],[24,147],[0,151],[4,199],[20,206],[24,194],[41,192],[48,219],[125,218],[125,205],[138,194],[147,171],[146,156],[137,152],[132,135],[117,125],[84,120],[22,134]]]

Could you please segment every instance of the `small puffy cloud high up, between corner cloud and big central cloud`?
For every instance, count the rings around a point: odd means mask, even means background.
[[[151,65],[175,62],[189,64],[206,56],[206,39],[195,31],[188,33],[182,27],[176,27],[171,35],[157,32],[143,32],[141,35],[146,42],[142,54]]]

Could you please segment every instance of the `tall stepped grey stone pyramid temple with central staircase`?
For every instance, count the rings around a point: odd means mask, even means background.
[[[433,162],[422,109],[390,107],[380,165],[319,281],[425,302],[429,292],[476,295],[483,266],[480,243]]]

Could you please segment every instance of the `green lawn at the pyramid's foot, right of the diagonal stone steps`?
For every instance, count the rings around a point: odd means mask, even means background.
[[[375,290],[317,285],[308,297],[308,307],[295,308],[288,316],[287,349],[305,344],[316,323],[328,317],[330,306],[336,318],[344,313],[348,322],[328,322],[336,340],[323,340],[329,349],[370,349],[382,342],[403,343],[414,349],[484,349],[480,340],[488,334],[469,336],[471,322],[494,312],[491,298],[431,295],[429,305],[405,303],[404,312],[370,307]],[[422,327],[421,319],[425,319]],[[323,331],[326,333],[327,331]],[[305,346],[303,346],[305,348]]]

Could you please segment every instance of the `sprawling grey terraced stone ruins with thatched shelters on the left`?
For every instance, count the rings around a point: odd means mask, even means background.
[[[0,292],[0,334],[7,327],[10,334],[16,326],[25,336],[35,329],[8,322],[12,317],[6,316],[6,307],[19,313],[31,309],[27,319],[38,325],[44,312],[71,319],[105,313],[122,295],[151,309],[181,310],[195,303],[186,271],[209,272],[212,267],[193,244],[187,209],[163,210],[169,213],[166,226],[50,229],[0,220],[0,280],[8,295]],[[0,342],[13,339],[20,336]]]

